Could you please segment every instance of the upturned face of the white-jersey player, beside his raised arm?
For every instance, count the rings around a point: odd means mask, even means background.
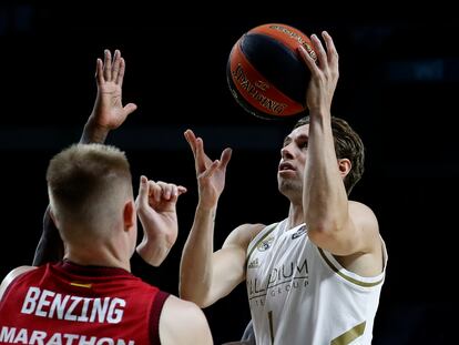
[[[277,183],[280,193],[289,196],[303,192],[303,175],[307,154],[309,124],[296,128],[288,134],[280,150]]]

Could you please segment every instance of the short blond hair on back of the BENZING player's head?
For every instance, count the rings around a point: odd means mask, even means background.
[[[111,145],[79,143],[62,150],[48,165],[47,182],[57,220],[82,227],[115,217],[133,195],[125,153]]]

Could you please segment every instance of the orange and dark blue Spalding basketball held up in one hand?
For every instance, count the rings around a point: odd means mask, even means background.
[[[310,72],[299,55],[303,45],[316,60],[309,38],[279,23],[251,29],[233,45],[226,78],[236,101],[263,119],[297,115],[306,110]]]

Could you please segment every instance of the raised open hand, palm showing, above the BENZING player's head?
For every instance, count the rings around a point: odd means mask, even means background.
[[[98,97],[91,116],[96,125],[108,131],[119,128],[137,106],[128,103],[123,106],[122,87],[125,62],[115,50],[113,59],[110,50],[104,51],[104,61],[96,60],[95,80]]]

